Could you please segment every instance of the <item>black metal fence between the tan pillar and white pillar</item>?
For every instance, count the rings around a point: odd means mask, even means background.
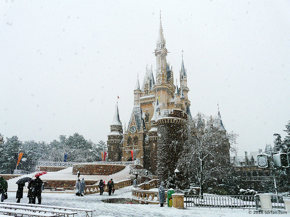
[[[258,209],[260,198],[240,195],[186,195],[186,207]]]

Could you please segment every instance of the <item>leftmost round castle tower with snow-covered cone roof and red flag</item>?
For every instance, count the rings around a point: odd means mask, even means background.
[[[111,124],[111,132],[108,135],[108,161],[121,161],[122,152],[122,138],[123,128],[119,118],[118,104],[115,108],[115,115]]]

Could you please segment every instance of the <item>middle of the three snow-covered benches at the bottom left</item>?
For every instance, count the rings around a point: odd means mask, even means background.
[[[60,210],[60,209],[19,206],[19,205],[9,205],[9,204],[0,204],[0,208],[15,209],[15,210],[22,209],[22,210],[27,210],[27,211],[32,211],[32,212],[35,212],[35,211],[44,212],[44,213],[56,214],[57,216],[67,216],[67,217],[69,217],[70,215],[75,216],[75,214],[77,214],[77,212],[65,211],[65,210]]]

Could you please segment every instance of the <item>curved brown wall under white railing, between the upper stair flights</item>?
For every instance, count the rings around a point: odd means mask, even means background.
[[[74,164],[73,174],[77,174],[79,170],[82,175],[99,175],[107,176],[119,172],[125,168],[125,165],[116,164]]]

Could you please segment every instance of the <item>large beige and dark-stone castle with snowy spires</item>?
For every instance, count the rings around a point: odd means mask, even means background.
[[[171,144],[173,141],[185,139],[178,131],[186,124],[186,120],[191,118],[189,88],[183,58],[178,87],[177,79],[176,85],[174,84],[172,67],[166,61],[167,53],[160,15],[155,49],[156,82],[152,66],[146,67],[141,88],[137,78],[134,106],[128,127],[123,133],[116,105],[107,141],[109,161],[132,161],[139,158],[145,169],[162,180],[168,177],[168,173],[173,174],[176,168],[175,153],[179,147],[173,148]]]

